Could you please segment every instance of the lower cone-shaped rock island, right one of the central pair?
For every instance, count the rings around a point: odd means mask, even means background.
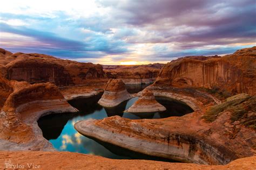
[[[131,113],[148,113],[148,112],[161,112],[165,111],[166,108],[156,101],[152,91],[143,90],[142,95],[129,109],[127,112]]]

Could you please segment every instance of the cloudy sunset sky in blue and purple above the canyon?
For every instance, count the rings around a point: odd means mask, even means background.
[[[166,63],[256,45],[255,0],[8,0],[0,47],[103,65]]]

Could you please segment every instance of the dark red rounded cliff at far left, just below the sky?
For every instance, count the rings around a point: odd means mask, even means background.
[[[2,55],[0,60],[2,74],[9,80],[70,86],[105,78],[101,65],[62,60],[44,54],[8,53]]]

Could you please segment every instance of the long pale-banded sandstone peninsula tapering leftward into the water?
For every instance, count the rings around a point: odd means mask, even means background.
[[[204,119],[207,115],[204,108],[213,104],[206,104],[205,100],[198,106],[202,109],[182,117],[130,120],[113,116],[103,120],[80,121],[75,128],[85,136],[132,151],[183,162],[221,165],[256,154],[255,129],[245,126],[246,122],[253,120],[255,101],[255,96],[248,95],[230,98],[227,100],[229,104],[222,104],[212,122]],[[236,114],[230,110],[230,105],[233,110],[240,107],[247,110],[242,114],[240,112],[241,115],[234,121]],[[236,105],[238,108],[235,108]]]

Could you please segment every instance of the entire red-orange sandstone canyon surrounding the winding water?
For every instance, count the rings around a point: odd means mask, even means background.
[[[49,159],[64,158],[76,160],[77,168],[84,162],[100,168],[100,161],[109,162],[101,168],[120,164],[132,165],[131,169],[255,167],[255,66],[256,47],[221,57],[187,56],[164,66],[102,66],[44,54],[12,54],[1,48],[0,159],[8,157],[19,164],[33,160],[45,167],[50,166]],[[152,82],[137,94],[129,94],[125,88],[125,84]],[[68,100],[99,94],[103,94],[99,104],[104,107],[136,96],[140,100],[165,97],[188,105],[193,112],[181,117],[131,120],[112,116],[76,122],[75,129],[132,151],[194,164],[56,152],[37,120],[48,114],[76,114],[78,110]],[[149,104],[138,103],[138,109]],[[70,162],[65,166],[71,168]]]

